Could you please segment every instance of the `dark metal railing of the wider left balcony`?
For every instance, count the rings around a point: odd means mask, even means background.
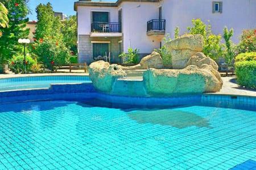
[[[93,22],[92,32],[121,32],[120,23]]]

